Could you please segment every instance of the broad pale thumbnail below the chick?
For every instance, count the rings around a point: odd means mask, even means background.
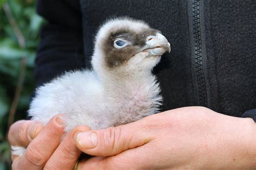
[[[95,148],[98,143],[98,137],[95,132],[80,132],[76,138],[80,146],[87,149]]]

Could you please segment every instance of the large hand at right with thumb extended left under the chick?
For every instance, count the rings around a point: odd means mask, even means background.
[[[77,132],[74,140],[81,151],[98,156],[80,160],[78,169],[245,169],[255,167],[255,132],[251,118],[184,107],[122,126]]]

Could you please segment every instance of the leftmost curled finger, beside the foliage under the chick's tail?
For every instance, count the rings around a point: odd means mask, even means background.
[[[8,133],[8,140],[12,146],[26,147],[43,129],[39,121],[19,120],[12,124]]]

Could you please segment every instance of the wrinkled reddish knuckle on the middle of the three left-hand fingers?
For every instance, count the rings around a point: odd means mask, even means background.
[[[47,161],[45,155],[42,153],[43,151],[38,147],[31,145],[26,148],[25,160],[28,164],[33,166],[41,167]]]

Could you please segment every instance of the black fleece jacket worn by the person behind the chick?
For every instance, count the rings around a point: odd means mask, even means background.
[[[256,120],[255,1],[38,0],[47,21],[36,57],[37,86],[91,68],[93,37],[114,16],[142,19],[172,45],[154,69],[162,111],[205,106]]]

